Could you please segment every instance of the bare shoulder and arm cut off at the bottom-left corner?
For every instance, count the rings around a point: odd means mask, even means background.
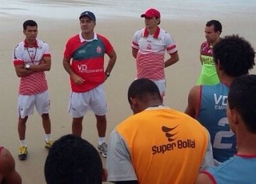
[[[4,182],[6,184],[20,184],[22,183],[22,178],[20,174],[15,170],[15,162],[13,156],[10,154],[9,150],[5,148],[2,149],[0,154],[0,183]]]

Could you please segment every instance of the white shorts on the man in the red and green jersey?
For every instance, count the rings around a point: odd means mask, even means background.
[[[106,114],[106,96],[103,84],[85,93],[70,94],[69,113],[73,118],[83,117],[88,110],[102,116]]]

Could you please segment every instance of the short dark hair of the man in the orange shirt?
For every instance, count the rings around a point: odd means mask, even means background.
[[[143,100],[146,96],[161,99],[158,86],[148,78],[138,78],[134,80],[128,89],[128,102],[131,104],[130,98],[139,98],[140,100]]]

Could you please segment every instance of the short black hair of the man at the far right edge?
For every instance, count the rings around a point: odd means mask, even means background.
[[[230,110],[237,110],[248,131],[256,134],[256,75],[235,78],[228,94]]]

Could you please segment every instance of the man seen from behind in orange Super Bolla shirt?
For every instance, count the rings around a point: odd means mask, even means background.
[[[134,115],[110,135],[106,167],[115,183],[194,183],[200,168],[213,166],[210,135],[190,116],[162,105],[158,86],[147,78],[130,85]]]

